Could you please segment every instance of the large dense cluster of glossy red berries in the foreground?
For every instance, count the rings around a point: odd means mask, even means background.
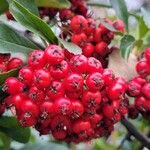
[[[5,81],[5,102],[15,107],[23,127],[57,140],[82,142],[108,136],[127,113],[126,81],[103,69],[94,57],[74,55],[49,45],[34,50],[18,78]]]

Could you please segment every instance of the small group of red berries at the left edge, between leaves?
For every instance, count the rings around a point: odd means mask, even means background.
[[[10,58],[10,54],[0,54],[0,73],[17,69],[23,66],[23,61],[19,58]]]

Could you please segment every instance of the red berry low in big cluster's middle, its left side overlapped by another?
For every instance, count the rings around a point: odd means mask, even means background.
[[[70,116],[72,119],[77,119],[82,116],[84,113],[84,107],[82,103],[79,100],[73,100],[71,101],[71,112]]]

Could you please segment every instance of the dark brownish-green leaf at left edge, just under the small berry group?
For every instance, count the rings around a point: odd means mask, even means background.
[[[18,69],[11,70],[5,73],[0,73],[0,85],[2,85],[8,77],[15,77],[18,75]]]

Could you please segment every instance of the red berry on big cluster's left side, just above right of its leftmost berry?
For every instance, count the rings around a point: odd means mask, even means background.
[[[30,86],[33,79],[33,71],[29,67],[24,67],[19,71],[19,80]]]

